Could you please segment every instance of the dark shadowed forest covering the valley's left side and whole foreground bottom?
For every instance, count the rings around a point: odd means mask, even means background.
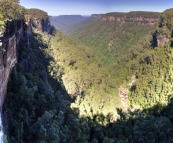
[[[39,48],[47,45],[35,37],[41,39],[39,34],[32,35],[30,48],[21,42],[19,64],[8,84],[3,124],[9,142],[173,142],[173,99],[167,106],[158,103],[143,111],[124,113],[117,109],[120,118],[116,122],[111,122],[111,114],[79,118],[78,109],[70,108],[74,99],[48,74],[53,57]],[[105,126],[100,124],[105,122]]]

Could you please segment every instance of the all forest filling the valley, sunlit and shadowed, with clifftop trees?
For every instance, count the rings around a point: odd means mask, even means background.
[[[48,18],[13,4],[20,17],[1,8],[3,26]],[[18,45],[2,108],[7,142],[173,142],[173,9],[127,15],[126,22],[90,17],[70,36],[32,27]],[[130,20],[148,15],[154,25]]]

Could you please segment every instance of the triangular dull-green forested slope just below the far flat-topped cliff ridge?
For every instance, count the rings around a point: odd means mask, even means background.
[[[109,65],[110,56],[113,58],[112,62],[115,62],[118,55],[124,54],[131,45],[135,45],[151,31],[152,27],[148,25],[135,23],[121,25],[114,21],[98,20],[72,36],[93,48],[97,55]]]

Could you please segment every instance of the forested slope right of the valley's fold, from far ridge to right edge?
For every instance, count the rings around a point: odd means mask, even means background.
[[[166,105],[172,98],[172,42],[164,48],[153,47],[153,43],[165,43],[171,38],[171,18],[172,10],[165,11],[155,34],[154,27],[148,25],[96,21],[72,36],[91,47],[107,69],[108,91],[113,88],[114,94],[121,95],[122,89],[127,89],[129,106],[147,109],[158,102]],[[152,35],[156,35],[157,41]]]

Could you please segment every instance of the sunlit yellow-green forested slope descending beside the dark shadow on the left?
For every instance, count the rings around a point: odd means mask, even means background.
[[[44,34],[43,38],[48,39],[46,37]],[[37,39],[39,40],[39,37]],[[99,65],[100,60],[92,49],[56,31],[45,52],[54,57],[49,65],[51,76],[58,79],[68,94],[75,98],[76,103],[72,105],[74,108],[79,103],[81,115],[89,114],[90,116],[97,112],[106,114],[114,112],[116,107],[121,106],[119,97],[112,97],[107,92],[106,70]],[[111,100],[105,100],[107,97]],[[104,108],[102,102],[105,103]],[[87,104],[84,108],[85,103]],[[107,110],[110,105],[114,108]]]

